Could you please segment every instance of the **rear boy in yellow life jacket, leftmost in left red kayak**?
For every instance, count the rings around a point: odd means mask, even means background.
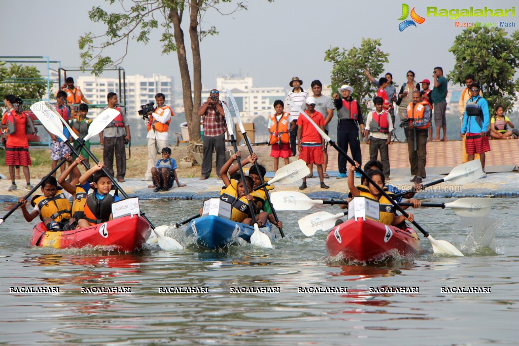
[[[71,218],[71,204],[69,198],[72,195],[63,191],[58,186],[56,178],[48,177],[42,184],[43,196],[36,195],[31,200],[34,210],[29,213],[26,208],[27,201],[22,197],[18,200],[21,203],[23,217],[27,222],[31,222],[39,216],[49,231],[66,231],[71,229],[69,220]]]

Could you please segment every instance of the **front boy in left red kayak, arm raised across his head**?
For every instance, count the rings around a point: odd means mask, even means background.
[[[106,173],[102,171],[104,167],[103,162],[94,165],[86,171],[79,178],[79,185],[85,185],[92,175],[94,177],[92,193],[86,196],[86,191],[76,185],[76,196],[72,204],[72,210],[75,217],[78,218],[77,223],[79,228],[86,228],[91,225],[97,225],[107,222],[112,219],[112,203],[120,200],[119,196],[112,196],[110,190],[112,189],[112,181]],[[83,207],[84,212],[80,213]],[[76,213],[79,211],[79,213]]]

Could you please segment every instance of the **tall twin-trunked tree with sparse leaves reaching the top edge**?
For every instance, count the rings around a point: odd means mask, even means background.
[[[114,5],[115,0],[106,0],[106,2]],[[218,6],[223,3],[233,3],[233,0],[132,0],[127,2],[121,0],[119,3],[120,12],[108,13],[101,6],[93,7],[89,11],[90,20],[105,24],[106,32],[100,35],[89,32],[79,38],[82,67],[87,68],[91,65],[94,73],[100,74],[104,68],[122,62],[130,40],[147,44],[150,39],[149,34],[154,29],[161,30],[162,54],[176,52],[178,58],[189,138],[192,141],[199,140],[198,108],[201,103],[202,89],[200,41],[208,35],[218,34],[215,26],[203,29],[200,25],[201,18],[209,10],[215,10],[221,15],[230,15],[238,10],[246,10],[247,5],[238,1],[234,9],[223,13]],[[184,31],[181,27],[184,14],[189,16],[188,34],[192,51],[193,81],[187,61]],[[126,46],[122,57],[114,60],[110,56],[103,55],[104,49],[118,44]]]

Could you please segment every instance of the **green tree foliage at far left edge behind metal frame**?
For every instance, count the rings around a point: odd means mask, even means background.
[[[11,64],[7,68],[0,67],[0,96],[2,98],[6,94],[13,94],[25,100],[40,100],[46,90],[46,79],[35,66]]]

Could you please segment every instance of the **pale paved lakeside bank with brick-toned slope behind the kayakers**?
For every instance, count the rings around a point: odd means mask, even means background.
[[[368,146],[362,144],[363,162],[367,162]],[[418,197],[519,197],[519,174],[512,172],[516,165],[519,165],[519,140],[499,140],[490,141],[491,151],[487,153],[487,172],[496,172],[488,174],[485,179],[479,179],[476,182],[458,186],[450,183],[442,183],[431,186],[429,190],[420,192]],[[254,150],[269,152],[270,147],[255,146]],[[330,179],[325,179],[325,183],[330,189],[321,189],[318,178],[307,179],[308,188],[304,190],[312,198],[337,198],[348,191],[346,179],[337,179],[333,173],[337,173],[337,151],[333,148],[328,149],[330,154],[329,173]],[[390,145],[390,161],[391,161],[391,180],[390,184],[398,186],[402,189],[411,188],[409,178],[409,162],[407,160],[407,144],[393,143]],[[441,174],[448,174],[450,170],[461,163],[461,142],[431,142],[428,143],[427,170],[428,175],[426,182],[440,179]],[[317,170],[315,170],[317,174]],[[267,173],[267,176],[273,174]],[[220,179],[209,178],[201,181],[198,178],[181,178],[186,187],[173,187],[167,192],[154,193],[153,189],[148,189],[151,182],[141,181],[141,179],[127,178],[121,187],[133,196],[139,196],[142,199],[152,198],[170,198],[170,199],[206,199],[209,197],[217,197],[223,183]],[[358,181],[358,179],[357,179]],[[24,196],[26,191],[23,190],[23,184],[19,184],[19,189],[8,192],[10,185],[9,180],[0,179],[0,202],[14,202],[19,197]],[[294,190],[301,182],[292,184],[277,184],[276,190]]]

